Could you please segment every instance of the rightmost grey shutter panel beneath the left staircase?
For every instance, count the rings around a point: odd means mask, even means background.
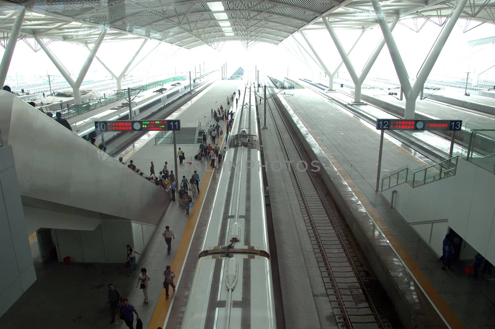
[[[127,250],[125,246],[132,246],[131,221],[102,220],[107,261],[110,263],[125,263]],[[141,251],[141,250],[138,250]]]

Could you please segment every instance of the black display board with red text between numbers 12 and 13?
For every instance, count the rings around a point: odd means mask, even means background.
[[[461,130],[462,120],[377,119],[378,130]]]

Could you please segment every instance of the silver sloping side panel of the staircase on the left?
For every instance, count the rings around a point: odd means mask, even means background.
[[[162,188],[13,94],[2,91],[0,106],[2,125],[9,123],[2,137],[13,148],[21,195],[158,223],[167,206]],[[129,187],[139,193],[129,193]]]

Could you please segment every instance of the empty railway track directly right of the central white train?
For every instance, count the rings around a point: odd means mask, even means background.
[[[300,161],[310,160],[294,140],[276,102],[267,106],[290,163],[291,180],[337,324],[348,329],[393,328],[380,305],[378,297],[382,296],[374,289],[376,279],[356,256],[357,243],[328,189],[318,173],[300,165]]]

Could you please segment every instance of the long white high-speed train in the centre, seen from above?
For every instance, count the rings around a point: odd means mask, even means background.
[[[254,93],[236,112],[182,329],[276,328]]]

